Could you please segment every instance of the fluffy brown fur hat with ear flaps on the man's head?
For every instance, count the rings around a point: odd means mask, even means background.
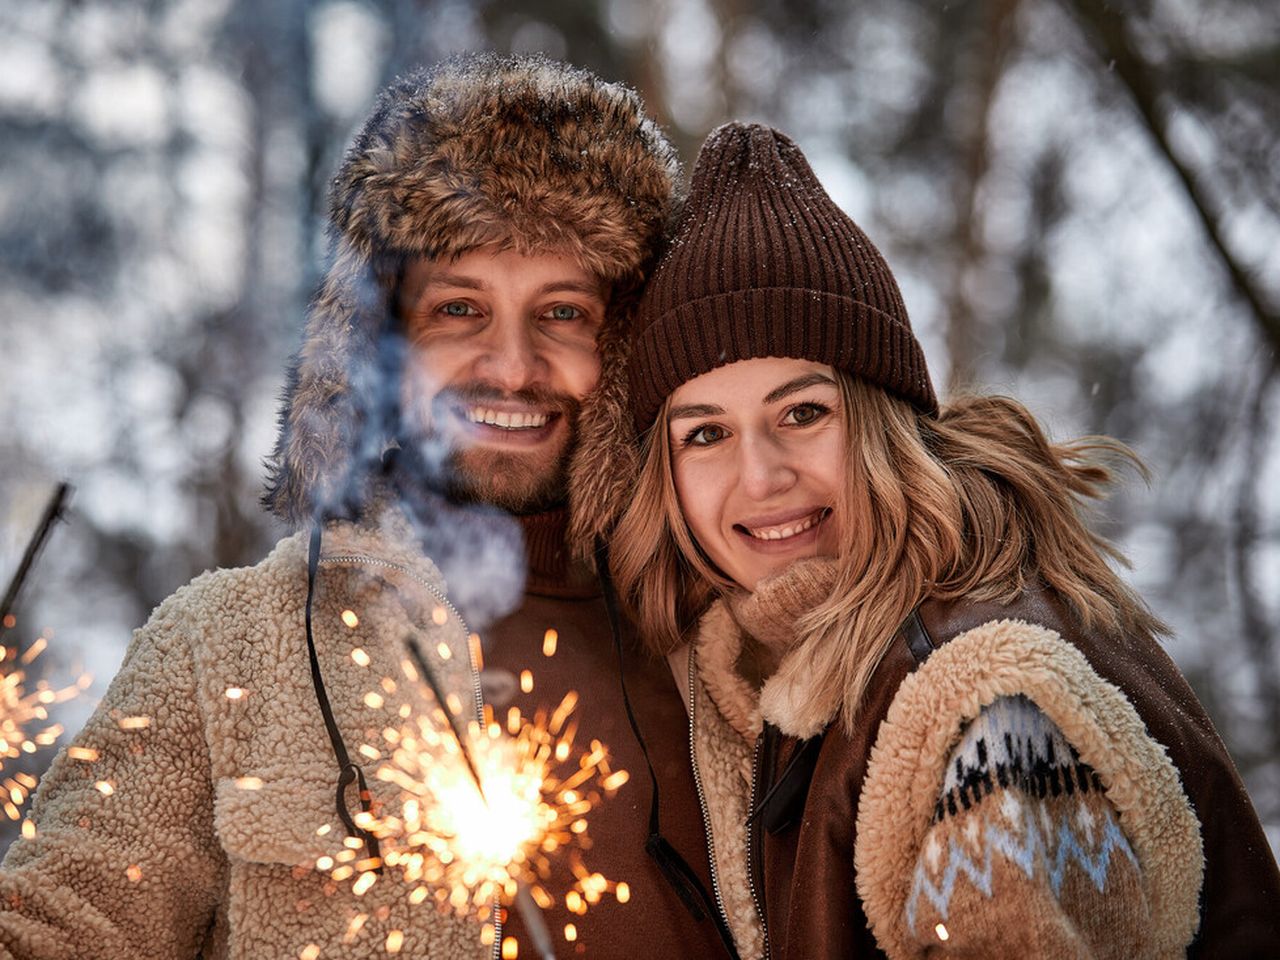
[[[289,372],[264,504],[291,525],[364,504],[365,465],[392,439],[378,397],[398,388],[380,351],[408,259],[489,243],[575,257],[613,291],[600,349],[603,380],[617,380],[627,306],[677,177],[640,99],[585,70],[471,55],[396,81],[330,188],[330,266]]]

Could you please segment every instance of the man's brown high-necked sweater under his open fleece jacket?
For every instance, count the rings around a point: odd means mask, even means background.
[[[609,763],[627,771],[627,783],[591,813],[591,849],[582,855],[589,872],[611,882],[625,881],[631,899],[618,904],[609,893],[577,915],[566,906],[573,883],[570,860],[561,858],[544,884],[554,906],[544,913],[558,956],[589,957],[716,957],[723,955],[710,922],[695,923],[644,850],[648,835],[650,782],[639,744],[627,724],[618,684],[617,655],[595,577],[568,562],[563,512],[522,520],[529,557],[529,581],[521,607],[481,637],[489,690],[512,690],[508,703],[529,714],[553,709],[576,690],[579,740],[595,737],[609,749]],[[554,655],[544,655],[548,630],[557,631]],[[707,872],[707,846],[700,827],[698,796],[689,765],[689,733],[681,691],[671,681],[666,662],[654,660],[628,636],[627,690],[662,783],[662,829],[685,859]],[[534,675],[534,689],[520,692],[522,669]],[[499,716],[507,703],[494,703]],[[577,940],[564,941],[572,923]],[[506,936],[520,942],[520,956],[532,956],[518,914],[507,918]]]

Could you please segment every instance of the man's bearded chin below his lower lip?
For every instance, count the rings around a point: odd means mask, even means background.
[[[564,502],[567,444],[552,452],[471,447],[451,457],[448,495],[511,513],[541,513]]]

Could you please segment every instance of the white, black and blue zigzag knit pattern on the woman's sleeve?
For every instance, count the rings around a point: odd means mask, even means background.
[[[997,796],[983,803],[992,794]],[[942,831],[948,835],[945,842],[933,836],[945,822],[959,819],[969,820],[963,841],[955,831]],[[933,829],[915,865],[908,928],[915,932],[922,899],[947,919],[963,881],[986,897],[998,896],[992,883],[997,856],[1016,864],[1029,881],[1043,870],[1055,897],[1073,864],[1100,893],[1115,856],[1138,867],[1097,774],[1024,696],[986,707],[952,750]]]

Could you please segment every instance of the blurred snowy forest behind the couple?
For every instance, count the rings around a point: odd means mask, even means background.
[[[5,3],[0,584],[76,493],[3,640],[93,675],[69,728],[159,600],[282,534],[257,497],[328,178],[383,83],[476,49],[635,86],[686,164],[723,120],[782,128],[893,265],[940,387],[1133,444],[1152,483],[1098,524],[1280,844],[1268,0]]]

